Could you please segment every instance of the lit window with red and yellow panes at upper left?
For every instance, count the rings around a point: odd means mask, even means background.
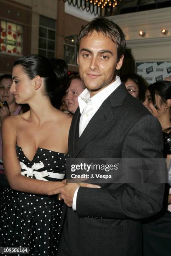
[[[0,20],[0,51],[8,54],[23,53],[23,27]]]

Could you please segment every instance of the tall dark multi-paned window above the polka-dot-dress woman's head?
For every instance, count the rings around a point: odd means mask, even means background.
[[[55,56],[55,23],[56,20],[40,15],[38,54],[48,59]]]

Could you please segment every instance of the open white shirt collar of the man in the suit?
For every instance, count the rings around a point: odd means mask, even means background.
[[[107,99],[107,97],[116,90],[116,88],[121,84],[120,77],[116,76],[115,81],[112,84],[105,87],[103,90],[95,94],[90,98],[89,91],[87,88],[78,96],[79,110],[82,114],[85,106],[92,104],[93,115],[100,108],[102,103]]]

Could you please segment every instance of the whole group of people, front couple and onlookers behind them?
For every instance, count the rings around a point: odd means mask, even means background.
[[[34,54],[0,77],[0,247],[170,256],[171,79],[118,77],[125,36],[105,18],[82,29],[77,51],[79,74]],[[164,161],[156,167],[164,181],[66,179],[66,159],[146,158],[166,159],[168,174]]]

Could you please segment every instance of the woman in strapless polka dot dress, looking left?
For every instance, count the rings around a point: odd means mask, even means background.
[[[12,77],[10,92],[30,111],[6,118],[2,126],[9,187],[0,202],[0,247],[29,247],[29,255],[52,256],[62,203],[47,193],[63,185],[71,118],[51,105],[57,79],[46,57],[21,57]]]

